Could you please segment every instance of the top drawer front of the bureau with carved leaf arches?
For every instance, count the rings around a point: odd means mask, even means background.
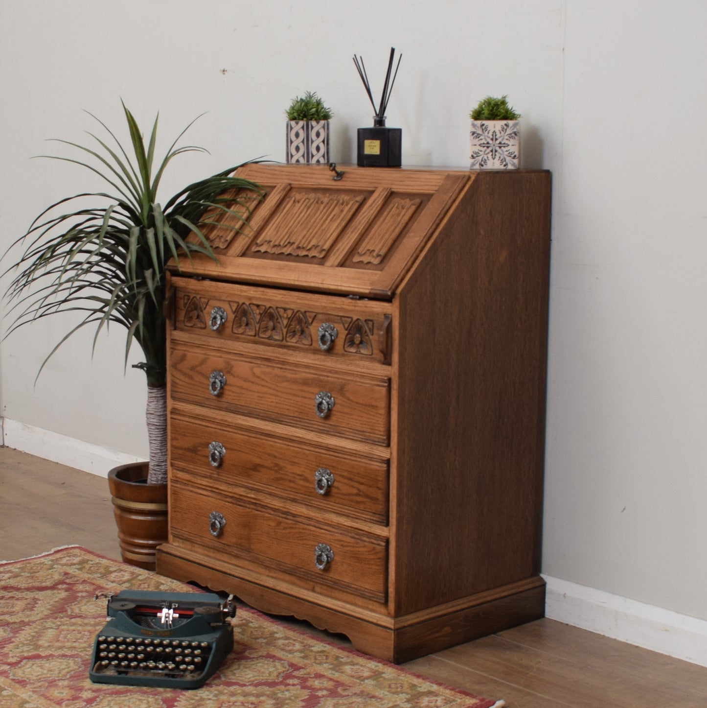
[[[322,357],[389,361],[391,306],[370,300],[173,278],[173,324],[211,341],[241,341]]]

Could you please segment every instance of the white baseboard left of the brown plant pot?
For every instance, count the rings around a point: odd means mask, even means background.
[[[102,477],[108,476],[108,471],[118,464],[139,462],[141,459],[10,418],[1,418],[1,430],[3,444],[7,447]]]

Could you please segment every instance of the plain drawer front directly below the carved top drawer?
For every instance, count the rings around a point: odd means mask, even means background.
[[[318,433],[387,445],[389,379],[294,367],[173,341],[171,396]],[[321,394],[321,395],[320,395]]]

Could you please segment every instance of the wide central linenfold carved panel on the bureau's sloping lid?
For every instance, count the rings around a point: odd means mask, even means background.
[[[260,229],[253,252],[324,258],[363,200],[352,194],[290,193]]]

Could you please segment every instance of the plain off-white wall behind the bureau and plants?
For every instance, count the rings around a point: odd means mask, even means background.
[[[182,183],[261,155],[284,159],[289,99],[334,112],[333,159],[355,158],[403,52],[389,125],[406,164],[467,164],[469,109],[508,93],[524,166],[553,171],[544,572],[707,619],[707,113],[702,2],[25,0],[0,4],[0,241],[86,187],[78,168],[28,158],[84,140],[81,108],[122,132],[120,97],[166,140],[208,111],[175,164]],[[667,106],[674,106],[673,118]],[[64,153],[66,154],[66,153]],[[88,185],[91,186],[91,185]],[[93,185],[97,186],[97,185]],[[2,413],[146,455],[144,379],[124,336],[45,321],[1,346]],[[137,352],[132,361],[139,360]]]

